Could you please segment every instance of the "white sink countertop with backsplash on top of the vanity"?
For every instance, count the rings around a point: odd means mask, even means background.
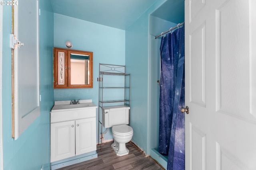
[[[65,111],[65,110],[77,110],[77,109],[89,109],[96,108],[97,106],[92,103],[92,100],[79,100],[80,104],[70,104],[68,101],[56,101],[52,107],[51,112]]]

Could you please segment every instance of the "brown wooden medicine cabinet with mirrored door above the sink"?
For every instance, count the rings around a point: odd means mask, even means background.
[[[92,54],[54,47],[54,88],[92,88]]]

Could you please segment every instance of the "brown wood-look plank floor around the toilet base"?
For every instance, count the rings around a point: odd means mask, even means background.
[[[143,152],[133,143],[126,143],[129,154],[116,156],[112,150],[112,142],[97,146],[98,158],[80,162],[78,164],[59,168],[58,170],[164,170],[150,156],[145,157]]]

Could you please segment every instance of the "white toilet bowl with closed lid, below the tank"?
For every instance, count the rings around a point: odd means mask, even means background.
[[[111,147],[117,156],[124,156],[129,153],[126,143],[132,139],[133,129],[128,125],[116,125],[112,127],[114,143]]]

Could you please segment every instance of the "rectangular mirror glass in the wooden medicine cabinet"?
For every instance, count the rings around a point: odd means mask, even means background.
[[[70,53],[70,84],[90,84],[89,55]]]

